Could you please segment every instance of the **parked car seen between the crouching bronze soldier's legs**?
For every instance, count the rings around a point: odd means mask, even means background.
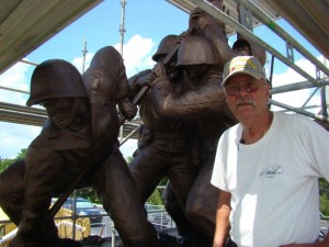
[[[65,203],[63,204],[63,207],[73,212],[73,210],[75,210],[75,199],[73,198],[68,198],[65,201]],[[89,216],[91,224],[102,223],[102,216],[100,216],[102,211],[84,198],[77,198],[76,199],[76,213],[77,213],[77,215],[83,215],[83,216],[87,215],[87,216]]]

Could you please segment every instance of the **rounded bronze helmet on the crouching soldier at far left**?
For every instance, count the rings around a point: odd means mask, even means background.
[[[27,106],[46,99],[87,98],[78,69],[63,59],[45,60],[34,69]]]

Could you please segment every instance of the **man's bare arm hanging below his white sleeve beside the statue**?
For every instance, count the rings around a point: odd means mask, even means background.
[[[219,192],[216,212],[216,229],[213,247],[223,247],[226,243],[229,229],[229,214],[231,210],[230,197],[231,194],[229,192]]]

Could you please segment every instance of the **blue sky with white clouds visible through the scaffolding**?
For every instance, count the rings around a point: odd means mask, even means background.
[[[82,72],[82,49],[87,43],[86,69],[95,52],[111,45],[120,50],[122,5],[120,0],[104,0],[68,27],[56,34],[48,42],[29,54],[24,59],[39,64],[46,59],[60,58],[72,63]],[[158,44],[168,34],[181,34],[186,31],[189,15],[164,0],[126,0],[124,19],[123,58],[127,76],[131,77],[154,66],[151,60]],[[288,23],[277,22],[318,59],[324,61],[320,53],[305,41]],[[285,44],[265,26],[254,30],[254,34],[285,54]],[[229,44],[235,36],[229,37]],[[270,57],[268,56],[270,59]],[[314,66],[302,55],[295,54],[296,64],[307,68],[315,76]],[[268,65],[269,67],[269,65]],[[30,79],[34,66],[18,63],[0,75],[0,86],[30,91]],[[269,70],[269,69],[268,69]],[[293,69],[275,60],[273,85],[281,86],[305,79]],[[275,100],[300,106],[310,90],[281,93]],[[29,94],[0,89],[0,101],[24,105]],[[311,103],[317,103],[317,96]],[[0,158],[13,158],[22,148],[26,148],[38,135],[41,127],[0,122]],[[136,148],[135,141],[126,142],[121,150],[124,156],[132,156]]]

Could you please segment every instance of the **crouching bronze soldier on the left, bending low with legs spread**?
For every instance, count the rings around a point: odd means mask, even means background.
[[[11,247],[80,246],[58,238],[48,209],[81,173],[78,188],[97,189],[125,246],[158,245],[118,150],[116,103],[126,119],[136,114],[127,96],[125,68],[113,47],[95,54],[83,80],[65,60],[35,68],[27,105],[42,104],[49,119],[25,159],[0,175],[0,205],[19,226]]]

